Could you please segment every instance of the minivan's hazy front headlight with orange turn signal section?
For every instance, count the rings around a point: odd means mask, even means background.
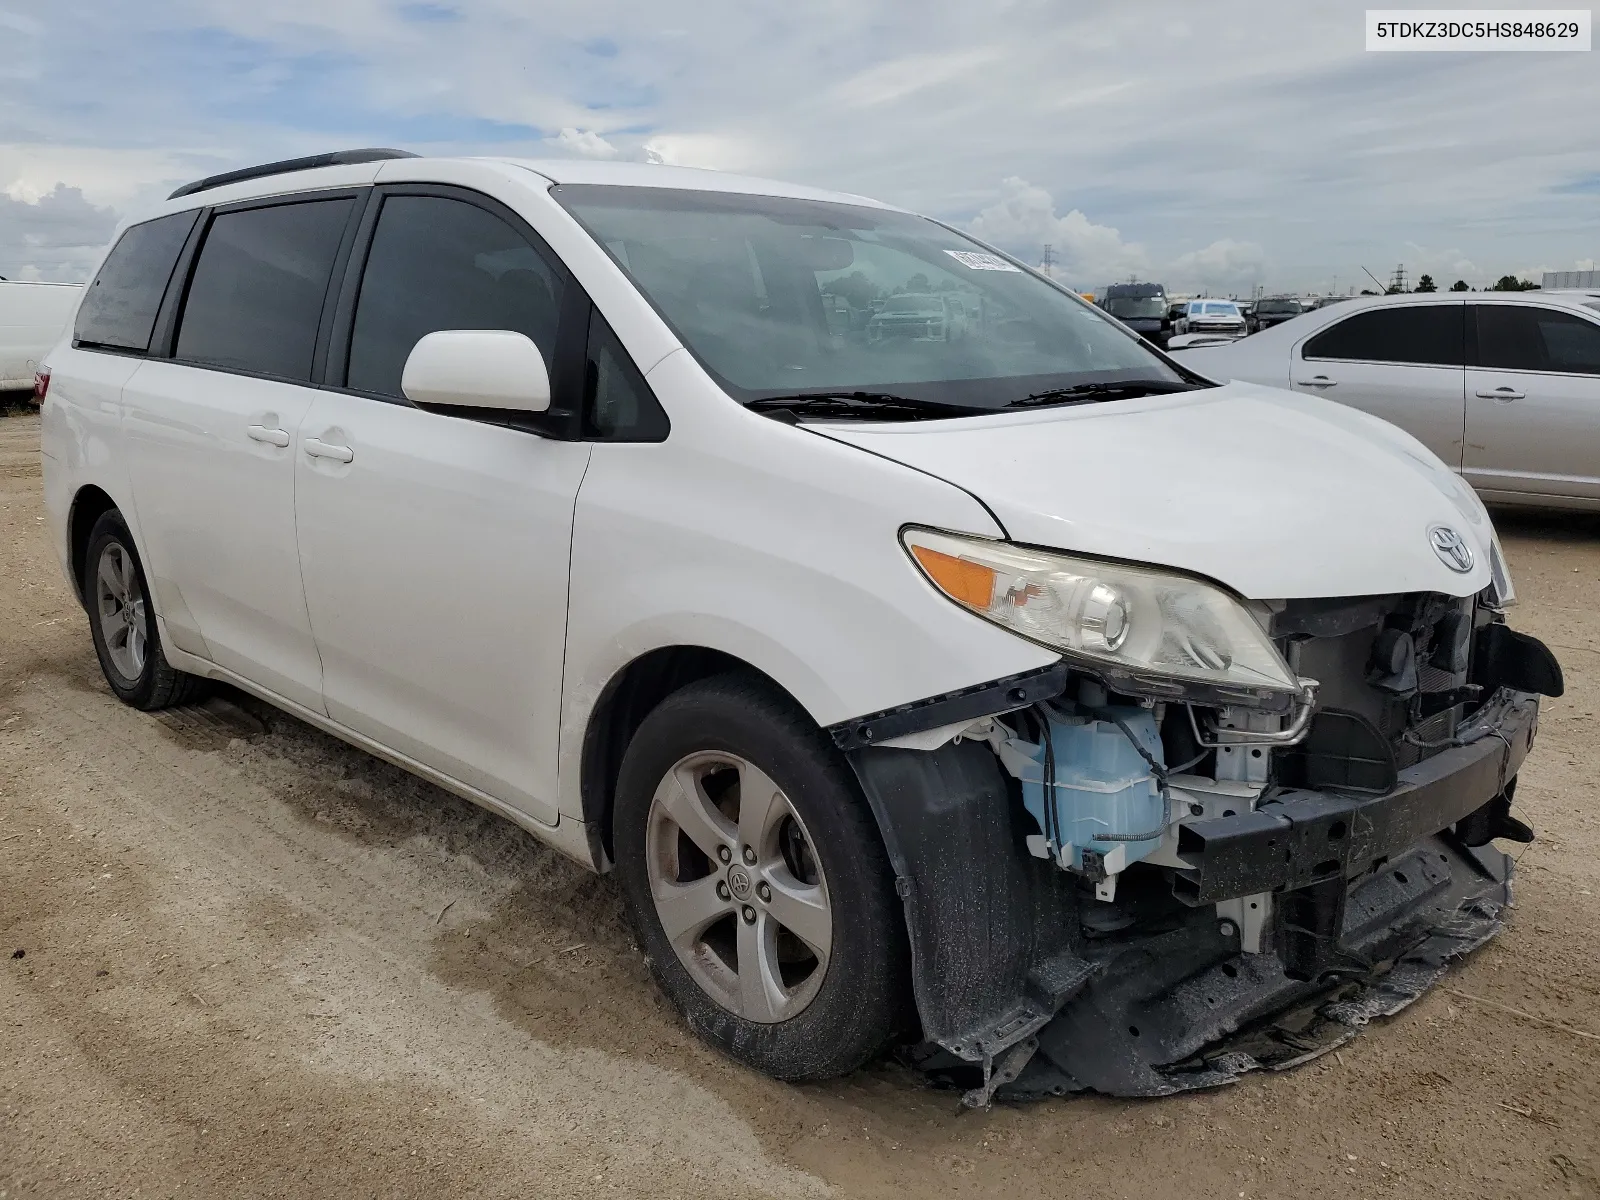
[[[907,528],[901,541],[962,608],[1117,675],[1211,685],[1240,699],[1301,691],[1266,630],[1213,584],[931,530]]]

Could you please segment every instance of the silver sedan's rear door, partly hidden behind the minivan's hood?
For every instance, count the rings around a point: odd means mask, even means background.
[[[1381,416],[1461,469],[1461,301],[1363,309],[1294,347],[1290,386]]]

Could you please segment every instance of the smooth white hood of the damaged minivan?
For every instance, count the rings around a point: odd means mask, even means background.
[[[1006,536],[1173,566],[1256,600],[1490,582],[1483,504],[1422,443],[1331,400],[1234,382],[1082,408],[808,429],[938,475]],[[1430,530],[1474,550],[1448,568]]]

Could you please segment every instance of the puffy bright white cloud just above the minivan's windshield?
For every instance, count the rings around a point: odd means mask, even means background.
[[[1077,286],[1099,286],[1128,274],[1147,274],[1144,246],[1122,240],[1110,226],[1098,226],[1077,208],[1056,216],[1056,202],[1043,187],[1010,176],[1000,198],[982,208],[966,227],[973,235],[1038,262],[1048,245],[1056,254],[1056,275]]]

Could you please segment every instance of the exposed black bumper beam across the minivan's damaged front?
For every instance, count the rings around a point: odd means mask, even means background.
[[[1501,690],[1462,726],[1467,746],[1400,773],[1379,797],[1290,790],[1240,816],[1186,821],[1173,890],[1189,904],[1350,878],[1504,794],[1533,746],[1539,698]]]

